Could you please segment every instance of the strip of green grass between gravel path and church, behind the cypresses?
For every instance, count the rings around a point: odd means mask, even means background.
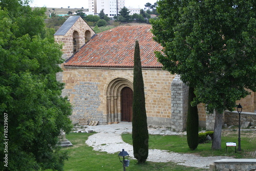
[[[132,144],[132,134],[122,134],[124,142]],[[149,148],[163,149],[176,153],[195,153],[200,156],[231,156],[234,158],[255,158],[251,156],[251,152],[256,151],[256,131],[241,132],[241,152],[234,153],[234,147],[228,147],[226,153],[226,142],[237,142],[238,132],[225,130],[222,131],[220,150],[211,150],[211,142],[199,144],[197,149],[191,151],[188,148],[186,135],[150,135]]]

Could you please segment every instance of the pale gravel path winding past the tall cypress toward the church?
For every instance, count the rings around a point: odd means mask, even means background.
[[[122,148],[130,154],[131,158],[133,156],[133,146],[123,142],[121,138],[122,133],[131,133],[132,124],[121,122],[112,125],[97,125],[89,126],[87,129],[97,132],[91,135],[86,143],[92,146],[95,151],[107,152],[110,154],[120,152]],[[177,135],[185,133],[170,132],[166,129],[148,129],[149,134],[160,134],[160,135]],[[193,166],[208,168],[209,164],[213,163],[215,160],[227,159],[230,157],[224,156],[211,156],[211,157],[201,157],[195,154],[179,154],[174,152],[162,151],[159,149],[149,149],[147,161],[153,162],[175,162],[180,165]]]

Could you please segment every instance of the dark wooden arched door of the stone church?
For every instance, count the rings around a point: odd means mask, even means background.
[[[133,91],[129,87],[124,87],[121,95],[121,121],[131,122],[133,117]]]

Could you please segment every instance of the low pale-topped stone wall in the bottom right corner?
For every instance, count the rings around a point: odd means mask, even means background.
[[[211,164],[209,171],[253,171],[256,170],[256,159],[221,159]]]

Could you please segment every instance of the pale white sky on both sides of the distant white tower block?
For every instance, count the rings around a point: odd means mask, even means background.
[[[30,7],[48,8],[88,8],[88,0],[32,0]],[[146,3],[154,4],[157,0],[125,0],[125,7],[144,8]]]

